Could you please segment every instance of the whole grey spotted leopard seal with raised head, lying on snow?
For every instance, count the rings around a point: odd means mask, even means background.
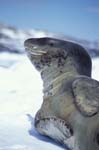
[[[43,103],[36,130],[70,150],[99,150],[99,82],[92,62],[77,43],[49,37],[24,42],[43,80]]]

